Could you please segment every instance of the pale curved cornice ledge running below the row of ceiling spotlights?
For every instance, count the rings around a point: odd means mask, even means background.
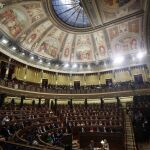
[[[77,72],[77,70],[74,70],[74,71],[66,70],[65,71],[65,70],[56,70],[53,68],[49,68],[46,65],[45,66],[39,65],[36,61],[33,62],[32,60],[30,60],[30,58],[22,57],[21,55],[17,56],[19,54],[16,54],[15,52],[10,51],[8,48],[6,49],[2,45],[0,45],[0,52],[2,52],[4,55],[6,55],[20,63],[23,63],[27,66],[31,66],[33,68],[37,68],[37,69],[41,69],[41,70],[45,70],[45,71],[49,71],[49,72],[58,72],[58,73],[64,73],[64,74],[70,74],[70,73],[71,74],[91,74],[91,73],[98,73],[98,72],[107,72],[110,70],[119,70],[119,69],[141,66],[141,65],[150,65],[150,55],[147,55],[147,57],[143,61],[132,62],[131,58],[128,58],[127,62],[121,66],[113,66],[113,64],[111,64],[111,65],[109,64],[109,67],[107,67],[107,68],[99,68],[99,69],[93,70],[93,71],[92,70],[89,70],[89,71],[84,70],[84,71],[78,71],[78,72]]]

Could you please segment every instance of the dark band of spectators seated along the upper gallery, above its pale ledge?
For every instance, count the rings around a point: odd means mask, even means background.
[[[19,89],[30,92],[54,93],[54,94],[89,94],[89,93],[108,93],[108,92],[123,92],[136,91],[140,89],[150,89],[150,83],[135,83],[132,81],[118,82],[110,85],[88,85],[75,88],[74,86],[65,85],[48,85],[41,86],[41,84],[34,84],[30,82],[23,82],[19,80],[0,80],[0,85],[8,88]]]

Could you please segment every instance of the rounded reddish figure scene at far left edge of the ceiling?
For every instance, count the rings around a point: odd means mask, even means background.
[[[12,7],[0,11],[0,25],[9,35],[16,37],[28,26],[28,17],[20,8]]]

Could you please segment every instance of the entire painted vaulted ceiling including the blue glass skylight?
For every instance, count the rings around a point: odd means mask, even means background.
[[[144,49],[144,0],[1,0],[0,30],[24,51],[69,63]]]

